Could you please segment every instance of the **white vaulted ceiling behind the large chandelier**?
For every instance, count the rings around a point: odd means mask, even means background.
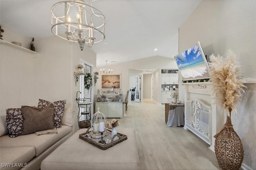
[[[51,8],[59,1],[0,0],[0,24],[35,41],[55,36]],[[106,60],[111,65],[156,55],[173,58],[178,51],[178,28],[201,1],[93,0],[107,20],[106,39],[92,47],[96,66],[106,66]]]

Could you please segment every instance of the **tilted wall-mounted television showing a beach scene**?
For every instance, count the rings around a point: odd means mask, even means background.
[[[176,55],[174,59],[183,81],[210,78],[209,66],[199,41],[186,51]]]

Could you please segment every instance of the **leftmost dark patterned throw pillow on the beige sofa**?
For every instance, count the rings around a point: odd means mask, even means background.
[[[9,137],[20,136],[23,132],[23,116],[21,109],[6,109],[6,128],[9,131]]]

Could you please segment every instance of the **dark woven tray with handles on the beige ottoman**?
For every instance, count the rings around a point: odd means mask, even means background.
[[[102,149],[102,150],[106,150],[110,147],[113,147],[114,145],[124,141],[127,139],[127,135],[121,134],[121,133],[117,133],[116,135],[114,135],[113,137],[111,137],[111,131],[110,130],[106,130],[106,135],[104,132],[104,137],[103,140],[106,143],[99,143],[99,141],[101,141],[101,138],[98,139],[94,139],[91,137],[90,132],[89,131],[90,128],[87,129],[86,133],[82,133],[79,135],[80,139],[83,139],[84,141],[87,141],[88,143]]]

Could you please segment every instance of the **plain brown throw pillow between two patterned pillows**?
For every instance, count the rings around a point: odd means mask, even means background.
[[[54,106],[50,104],[45,108],[22,106],[23,132],[21,135],[54,129],[52,115],[54,114]]]

